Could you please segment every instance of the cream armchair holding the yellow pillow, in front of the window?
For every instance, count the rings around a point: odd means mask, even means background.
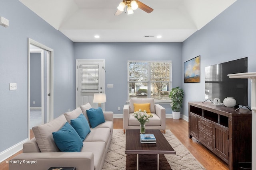
[[[155,104],[152,98],[131,98],[130,104],[124,105],[123,108],[123,129],[140,129],[140,122],[132,116],[134,113],[134,104],[150,103],[150,112],[153,117],[146,123],[146,129],[160,129],[165,133],[165,108]]]

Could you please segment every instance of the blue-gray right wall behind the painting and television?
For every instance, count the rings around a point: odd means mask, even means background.
[[[204,101],[205,67],[248,57],[248,72],[256,71],[256,1],[237,0],[202,29],[182,43],[182,62],[201,55],[201,82],[183,83],[183,112],[188,116],[188,102]],[[184,72],[182,74],[184,77]],[[251,83],[248,83],[248,102]]]

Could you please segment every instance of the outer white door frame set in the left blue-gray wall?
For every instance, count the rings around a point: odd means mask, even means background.
[[[49,115],[46,115],[47,122],[53,120],[53,98],[54,98],[54,92],[53,92],[53,52],[54,50],[38,43],[37,41],[34,41],[33,39],[28,38],[28,139],[30,139],[30,45],[34,45],[36,47],[39,47],[41,49],[44,49],[46,51],[50,52],[50,113]],[[42,95],[43,96],[43,95]],[[42,106],[44,107],[44,106]]]

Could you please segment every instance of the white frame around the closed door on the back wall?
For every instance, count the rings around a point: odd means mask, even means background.
[[[76,59],[76,107],[78,107],[78,62],[79,61],[102,61],[105,70],[105,60],[104,59]],[[103,72],[103,92],[105,93],[105,71]],[[103,108],[105,103],[103,103]]]

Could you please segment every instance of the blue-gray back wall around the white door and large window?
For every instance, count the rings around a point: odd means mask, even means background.
[[[105,59],[106,111],[122,113],[128,100],[128,60],[171,60],[172,87],[182,86],[182,43],[74,43],[75,59]],[[75,76],[75,73],[74,73]],[[114,84],[114,88],[107,88]],[[160,104],[171,113],[170,104]]]

